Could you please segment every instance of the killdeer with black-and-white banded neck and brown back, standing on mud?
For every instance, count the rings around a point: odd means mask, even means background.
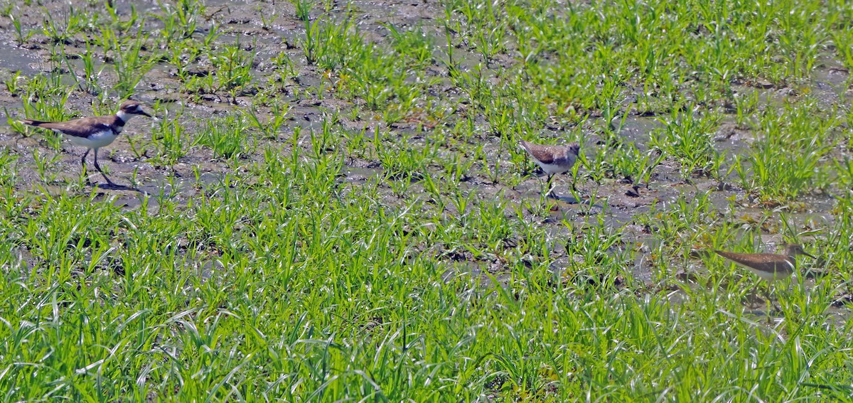
[[[98,165],[98,149],[113,143],[113,140],[119,137],[119,133],[125,128],[125,123],[131,120],[131,117],[135,114],[151,117],[150,114],[142,110],[139,102],[125,101],[119,107],[119,112],[107,116],[91,116],[88,118],[66,120],[64,122],[45,122],[26,119],[20,120],[20,123],[64,134],[71,143],[84,146],[86,152],[83,154],[83,158],[80,159],[80,165],[83,166],[84,171],[86,168],[86,155],[89,155],[91,149],[95,149],[95,168],[98,172],[101,172],[104,179],[107,179],[107,184],[115,185],[113,181],[107,178],[107,174],[101,170],[101,166]]]

